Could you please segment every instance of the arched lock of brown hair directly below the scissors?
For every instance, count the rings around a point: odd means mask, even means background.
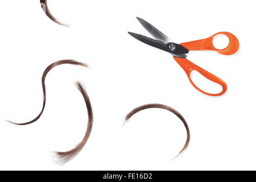
[[[184,147],[182,148],[182,150],[179,152],[179,154],[177,156],[179,156],[180,154],[182,154],[188,147],[189,141],[190,141],[190,131],[189,131],[189,127],[187,122],[185,121],[185,119],[183,118],[183,116],[176,111],[175,109],[172,109],[172,107],[166,106],[166,105],[162,105],[162,104],[147,104],[147,105],[143,105],[143,106],[139,106],[137,108],[135,108],[134,110],[132,110],[129,114],[126,115],[125,117],[125,123],[127,121],[129,121],[129,119],[131,117],[133,117],[134,114],[138,113],[139,111],[145,110],[145,109],[151,109],[151,108],[160,108],[160,109],[165,109],[168,111],[171,111],[172,113],[174,113],[178,118],[180,118],[180,120],[183,122],[186,130],[187,130],[187,141],[184,145]],[[125,124],[124,123],[124,124]],[[177,156],[175,158],[177,158]]]

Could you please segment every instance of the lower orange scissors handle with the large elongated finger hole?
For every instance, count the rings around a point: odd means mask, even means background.
[[[180,65],[181,68],[184,69],[185,73],[187,73],[188,79],[191,82],[191,84],[199,90],[201,93],[207,94],[208,96],[222,96],[223,94],[226,93],[226,90],[228,89],[228,85],[218,78],[217,76],[213,75],[212,73],[209,73],[208,71],[205,71],[203,68],[198,67],[197,65],[193,64],[191,61],[181,58],[181,57],[174,57],[174,59],[177,61],[177,63]],[[210,81],[215,82],[216,84],[219,84],[222,86],[222,91],[217,94],[212,94],[212,93],[207,93],[204,92],[204,90],[201,90],[194,84],[194,82],[191,79],[191,73],[193,71],[199,72],[201,75],[203,75],[205,78],[207,78]]]

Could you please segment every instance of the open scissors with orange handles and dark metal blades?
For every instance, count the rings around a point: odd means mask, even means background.
[[[180,67],[184,69],[191,84],[201,93],[207,94],[208,96],[222,96],[223,94],[226,93],[226,90],[228,89],[228,85],[223,80],[221,80],[217,76],[214,76],[212,73],[205,71],[203,68],[198,67],[197,65],[193,64],[191,61],[187,60],[186,58],[187,58],[187,53],[189,51],[203,51],[203,50],[216,51],[218,53],[221,53],[222,55],[233,55],[238,51],[240,47],[240,43],[236,38],[236,36],[234,36],[229,32],[218,32],[217,34],[214,34],[206,39],[176,44],[170,38],[168,38],[166,35],[160,32],[157,28],[152,26],[150,23],[138,17],[137,19],[142,24],[142,26],[156,40],[148,38],[147,36],[135,34],[133,32],[128,32],[131,36],[152,47],[156,47],[156,48],[162,49],[163,51],[170,52],[172,56],[174,56],[174,59],[180,65]],[[224,34],[229,38],[229,45],[224,49],[217,49],[213,46],[213,39],[216,35],[219,35],[219,34]],[[208,80],[221,85],[222,91],[220,93],[213,94],[213,93],[204,92],[203,90],[198,88],[191,79],[191,73],[193,71],[197,71]]]

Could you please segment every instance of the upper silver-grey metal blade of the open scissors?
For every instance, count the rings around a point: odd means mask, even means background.
[[[164,35],[160,30],[158,30],[156,27],[152,26],[152,24],[146,22],[142,18],[136,17],[139,22],[142,24],[142,26],[155,38],[158,40],[161,40],[164,43],[170,43],[173,42],[168,36]],[[173,42],[174,43],[174,42]]]

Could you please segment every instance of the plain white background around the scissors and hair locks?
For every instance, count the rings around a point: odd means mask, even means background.
[[[49,0],[48,5],[71,28],[47,18],[39,0],[1,2],[0,169],[256,169],[255,1]],[[127,34],[149,36],[136,16],[177,43],[220,31],[236,35],[241,44],[236,55],[188,55],[222,78],[228,92],[218,98],[201,94],[169,53]],[[5,122],[38,115],[42,73],[62,59],[91,68],[54,68],[46,78],[46,109],[39,121],[28,126]],[[80,154],[57,166],[51,151],[70,150],[86,130],[86,106],[76,80],[84,82],[92,102],[93,130]],[[174,114],[146,110],[122,127],[129,111],[150,103],[174,107],[188,122],[191,143],[181,158],[171,160],[186,139]]]

